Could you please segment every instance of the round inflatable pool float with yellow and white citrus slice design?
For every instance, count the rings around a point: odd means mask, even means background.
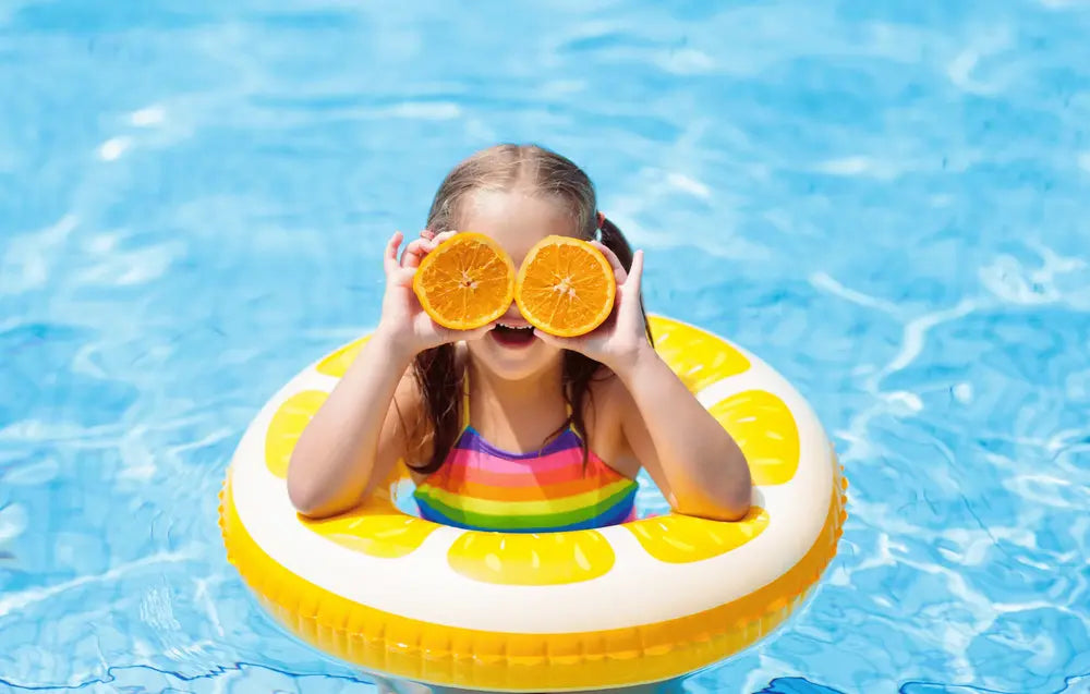
[[[713,665],[768,634],[836,553],[843,468],[806,401],[728,341],[653,317],[656,349],[741,446],[741,521],[645,518],[505,534],[413,518],[399,480],[311,521],[288,499],[295,441],[367,338],[307,367],[243,435],[221,492],[227,555],[290,632],[365,671],[489,691],[593,690]]]

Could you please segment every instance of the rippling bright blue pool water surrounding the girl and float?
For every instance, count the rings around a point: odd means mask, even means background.
[[[0,2],[0,691],[374,691],[250,601],[216,492],[496,141],[583,163],[650,307],[851,478],[810,609],[688,692],[1090,691],[1090,5],[472,8]]]

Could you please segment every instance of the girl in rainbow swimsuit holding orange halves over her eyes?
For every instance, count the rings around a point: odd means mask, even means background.
[[[436,325],[412,279],[455,231],[386,246],[378,328],[307,426],[288,489],[308,516],[360,503],[403,460],[421,515],[480,529],[547,532],[632,518],[645,467],[675,511],[730,521],[749,510],[750,473],[730,435],[655,353],[640,297],[643,254],[597,212],[568,159],[500,145],[458,165],[427,229],[472,230],[518,267],[549,234],[592,240],[613,265],[610,318],[580,338],[532,328],[513,303],[470,331]]]

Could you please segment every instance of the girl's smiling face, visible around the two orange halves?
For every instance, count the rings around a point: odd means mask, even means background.
[[[519,268],[538,241],[556,234],[577,235],[571,215],[547,197],[519,191],[477,191],[464,203],[459,230],[491,236]],[[560,350],[533,336],[514,302],[484,339],[469,343],[479,364],[507,380],[528,378],[556,364]],[[514,328],[512,330],[511,328]]]

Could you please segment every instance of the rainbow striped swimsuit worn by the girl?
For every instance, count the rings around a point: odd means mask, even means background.
[[[464,376],[462,433],[443,466],[413,492],[421,518],[469,529],[548,533],[635,516],[637,483],[594,453],[584,465],[571,427],[538,451],[510,453],[488,443],[469,417]]]

